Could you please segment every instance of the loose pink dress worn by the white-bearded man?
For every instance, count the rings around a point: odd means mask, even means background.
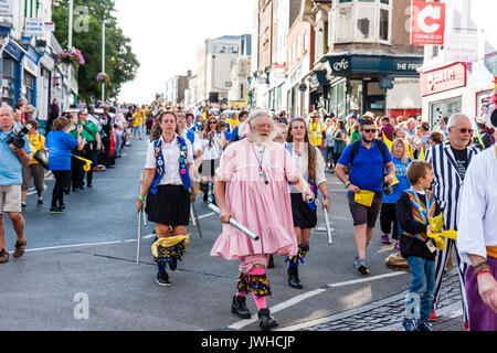
[[[254,148],[247,139],[230,145],[215,171],[218,180],[226,182],[226,205],[234,218],[257,234],[260,239],[252,240],[232,225],[223,224],[223,233],[211,256],[240,258],[243,263],[244,257],[254,255],[297,254],[288,181],[295,181],[299,171],[284,146],[272,142],[262,159],[262,168],[269,180],[265,184],[260,174],[261,151],[262,148]]]

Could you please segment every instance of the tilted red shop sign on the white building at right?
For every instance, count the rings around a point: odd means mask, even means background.
[[[466,65],[457,63],[420,76],[421,95],[427,96],[435,93],[466,86]]]

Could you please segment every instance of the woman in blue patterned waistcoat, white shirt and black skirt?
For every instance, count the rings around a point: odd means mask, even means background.
[[[192,191],[193,151],[188,139],[176,133],[177,116],[172,111],[162,111],[150,133],[150,142],[145,163],[144,182],[136,208],[144,208],[147,195],[148,220],[156,223],[157,238],[151,248],[154,260],[159,267],[157,284],[170,287],[166,265],[175,270],[177,260],[184,255],[189,236],[187,226],[190,217],[190,201],[194,201]],[[172,234],[169,233],[170,226]]]

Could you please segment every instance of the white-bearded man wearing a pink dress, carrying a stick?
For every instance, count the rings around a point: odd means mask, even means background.
[[[223,232],[211,256],[240,259],[231,311],[250,319],[245,297],[252,291],[260,327],[269,330],[278,323],[266,307],[265,297],[272,296],[265,275],[267,261],[273,254],[297,255],[289,184],[305,199],[313,199],[314,194],[289,152],[283,145],[273,142],[276,131],[267,111],[253,111],[244,128],[247,137],[226,148],[215,171],[214,194]],[[230,225],[230,217],[256,233],[260,239],[253,240]]]

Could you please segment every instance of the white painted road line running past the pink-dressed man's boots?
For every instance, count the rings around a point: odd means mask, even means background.
[[[288,299],[287,301],[284,301],[279,304],[276,304],[272,308],[269,308],[271,312],[278,312],[283,309],[287,309],[305,299],[311,298],[314,296],[320,295],[324,291],[327,291],[330,288],[337,288],[337,287],[343,287],[343,286],[349,286],[349,285],[357,285],[357,284],[362,284],[362,282],[367,282],[367,281],[372,281],[372,280],[377,280],[377,279],[382,279],[382,278],[388,278],[388,277],[395,277],[395,276],[400,276],[400,275],[405,275],[406,272],[391,272],[391,274],[384,274],[384,275],[378,275],[378,276],[373,276],[373,277],[367,277],[367,278],[361,278],[361,279],[355,279],[355,280],[348,280],[348,281],[343,281],[343,282],[338,282],[338,284],[331,284],[331,285],[327,285],[326,287],[328,288],[318,288],[315,290],[311,290],[309,292],[306,292],[304,295],[299,295],[297,297],[294,297],[292,299]],[[245,319],[245,320],[241,320],[239,322],[233,323],[232,325],[229,327],[229,329],[233,329],[233,330],[240,330],[255,321],[257,321],[257,315],[254,314],[252,315],[251,319]]]

